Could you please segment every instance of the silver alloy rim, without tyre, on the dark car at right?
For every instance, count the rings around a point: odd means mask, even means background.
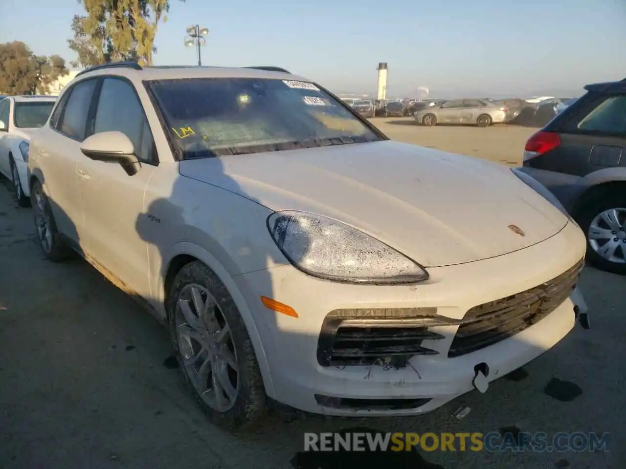
[[[610,208],[595,216],[587,238],[593,251],[604,260],[626,263],[626,208]]]

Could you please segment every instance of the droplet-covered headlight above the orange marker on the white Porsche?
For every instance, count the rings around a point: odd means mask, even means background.
[[[374,285],[428,279],[415,261],[332,218],[286,210],[272,213],[267,228],[287,260],[312,276]]]

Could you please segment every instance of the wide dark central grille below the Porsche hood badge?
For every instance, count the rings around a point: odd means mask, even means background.
[[[480,350],[538,323],[572,293],[583,265],[581,260],[535,288],[469,310],[454,336],[448,356]]]

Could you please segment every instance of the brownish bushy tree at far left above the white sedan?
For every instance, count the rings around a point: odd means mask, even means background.
[[[46,94],[50,85],[68,74],[58,55],[35,56],[21,41],[0,44],[0,91],[6,94]]]

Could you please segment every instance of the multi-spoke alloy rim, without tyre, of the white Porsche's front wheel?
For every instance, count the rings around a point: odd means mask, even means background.
[[[217,301],[207,288],[190,284],[180,291],[175,314],[178,350],[193,387],[213,410],[230,410],[239,395],[239,365]]]

